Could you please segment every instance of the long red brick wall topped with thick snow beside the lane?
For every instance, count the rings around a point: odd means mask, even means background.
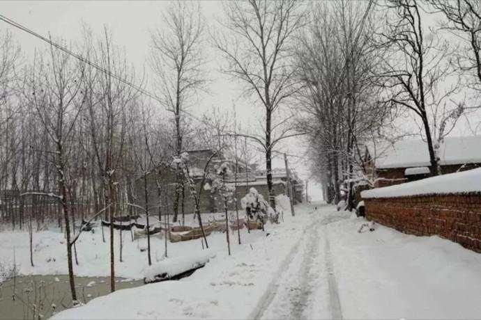
[[[481,253],[481,168],[362,191],[366,218]]]

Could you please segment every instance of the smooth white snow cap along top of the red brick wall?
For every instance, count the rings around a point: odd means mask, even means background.
[[[361,192],[362,198],[395,198],[408,195],[439,195],[481,192],[481,168],[385,186]]]

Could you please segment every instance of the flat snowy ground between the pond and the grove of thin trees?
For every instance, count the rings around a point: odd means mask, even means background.
[[[203,216],[205,221],[211,215]],[[220,218],[220,217],[217,217]],[[152,219],[153,220],[153,219]],[[142,222],[142,221],[141,221]],[[196,225],[192,215],[186,217],[186,225]],[[109,276],[109,228],[104,227],[105,242],[102,241],[100,227],[95,228],[95,233],[82,232],[76,243],[77,258],[79,264],[74,264],[75,275],[78,276]],[[120,259],[120,232],[114,231],[116,276],[123,278],[142,279],[144,269],[148,266],[147,239],[135,239],[132,241],[130,231],[122,232],[122,262]],[[264,237],[261,232],[247,234],[245,230],[241,234],[245,241],[256,241]],[[237,241],[236,235],[232,236],[232,242]],[[0,232],[0,265],[12,266],[15,252],[15,264],[20,275],[52,275],[67,274],[67,249],[66,239],[60,230],[35,232],[33,234],[33,264],[30,264],[29,234],[27,232]],[[214,252],[226,250],[225,234],[215,232],[208,237],[209,246]],[[167,255],[169,257],[184,257],[201,250],[201,240],[170,243],[167,241]],[[163,232],[151,237],[152,262],[160,262],[165,255],[165,239]],[[74,259],[75,262],[75,259]]]

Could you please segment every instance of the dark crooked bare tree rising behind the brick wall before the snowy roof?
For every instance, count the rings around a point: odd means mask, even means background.
[[[448,42],[436,31],[426,31],[418,1],[392,0],[386,7],[386,29],[380,33],[381,46],[388,48],[383,59],[385,101],[415,114],[427,141],[431,173],[440,175],[440,143],[466,111],[464,102],[453,99],[459,80],[451,79],[454,84],[447,85],[453,69]]]

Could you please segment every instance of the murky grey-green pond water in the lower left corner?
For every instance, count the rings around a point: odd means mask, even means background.
[[[139,287],[142,280],[116,278],[116,289]],[[13,292],[15,287],[15,300]],[[107,277],[76,277],[77,298],[82,303],[109,294]],[[71,306],[68,275],[27,275],[0,285],[0,319],[47,319]],[[54,305],[54,307],[52,307]]]

